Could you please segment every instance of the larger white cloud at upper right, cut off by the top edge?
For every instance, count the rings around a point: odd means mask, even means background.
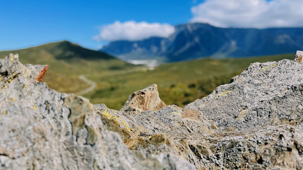
[[[217,27],[303,27],[303,0],[206,0],[191,12]]]

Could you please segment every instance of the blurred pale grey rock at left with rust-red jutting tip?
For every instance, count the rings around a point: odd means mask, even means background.
[[[46,69],[0,59],[0,169],[194,169],[171,153],[129,150],[87,99],[40,82]]]

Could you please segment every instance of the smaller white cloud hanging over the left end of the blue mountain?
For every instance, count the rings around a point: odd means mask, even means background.
[[[97,41],[143,40],[152,36],[168,37],[175,32],[175,27],[169,24],[115,21],[113,24],[101,27],[100,34],[93,37]]]

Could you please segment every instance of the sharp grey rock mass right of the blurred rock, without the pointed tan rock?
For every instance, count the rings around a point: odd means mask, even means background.
[[[94,108],[129,149],[168,151],[197,169],[302,169],[302,67],[286,59],[253,63],[184,108],[137,114]]]

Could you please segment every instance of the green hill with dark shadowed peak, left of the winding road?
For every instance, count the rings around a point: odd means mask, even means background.
[[[75,93],[90,86],[80,80],[79,75],[137,68],[105,53],[85,49],[68,41],[22,50],[0,51],[0,58],[9,53],[18,53],[23,64],[48,65],[43,81],[50,88],[66,93]]]

